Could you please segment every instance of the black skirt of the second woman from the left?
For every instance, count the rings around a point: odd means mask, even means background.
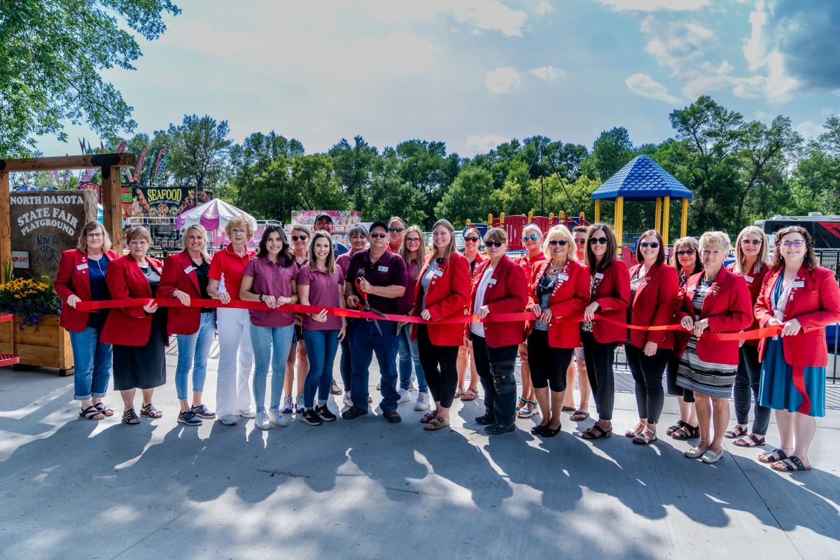
[[[152,316],[144,346],[113,345],[113,390],[155,389],[166,383],[166,309]]]

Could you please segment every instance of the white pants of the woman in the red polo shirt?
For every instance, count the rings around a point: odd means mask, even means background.
[[[251,408],[251,320],[247,309],[216,311],[218,329],[218,377],[216,411],[219,416]]]

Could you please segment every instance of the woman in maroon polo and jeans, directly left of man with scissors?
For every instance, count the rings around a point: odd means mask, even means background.
[[[304,306],[344,308],[344,275],[335,264],[333,238],[327,232],[315,232],[309,249],[309,262],[297,274],[297,294]],[[344,339],[347,322],[344,317],[318,313],[303,315],[303,339],[307,343],[309,373],[303,385],[303,412],[298,416],[310,426],[334,421],[327,400],[333,382],[333,362]],[[314,406],[318,390],[318,406]]]

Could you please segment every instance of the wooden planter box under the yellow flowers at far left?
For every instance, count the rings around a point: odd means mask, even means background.
[[[18,354],[20,365],[55,368],[60,375],[73,373],[70,333],[58,325],[57,315],[41,317],[37,327],[18,329],[20,319],[0,323],[0,353]]]

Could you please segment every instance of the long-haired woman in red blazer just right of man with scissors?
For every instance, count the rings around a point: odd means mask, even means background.
[[[470,265],[455,249],[455,230],[448,221],[438,220],[432,228],[432,251],[414,287],[414,314],[432,322],[415,324],[412,332],[435,405],[420,420],[426,430],[449,426],[449,408],[458,386],[458,348],[464,343],[463,323],[434,323],[468,314],[470,288]]]

